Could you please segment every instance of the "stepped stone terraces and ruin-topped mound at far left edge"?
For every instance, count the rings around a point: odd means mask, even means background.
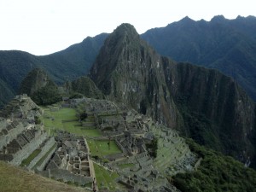
[[[10,114],[11,113],[11,114]],[[36,125],[35,117],[42,111],[26,96],[15,99],[3,108],[0,120],[0,160],[20,166],[23,160],[37,150],[38,155],[26,165],[29,170],[44,167],[55,145],[54,137],[48,137],[44,125]],[[51,151],[49,151],[51,150]]]

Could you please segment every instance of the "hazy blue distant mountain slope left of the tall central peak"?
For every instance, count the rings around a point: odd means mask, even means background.
[[[87,74],[107,36],[102,33],[88,37],[80,44],[44,56],[18,50],[0,51],[0,107],[17,94],[21,80],[35,67],[44,68],[57,84]]]

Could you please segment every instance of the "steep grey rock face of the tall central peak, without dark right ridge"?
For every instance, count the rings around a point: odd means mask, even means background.
[[[160,55],[140,39],[133,26],[123,24],[106,39],[90,77],[115,101],[177,127],[183,122],[172,96],[166,91],[161,60]]]

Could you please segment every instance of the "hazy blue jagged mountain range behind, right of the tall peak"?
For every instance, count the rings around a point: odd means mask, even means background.
[[[141,37],[160,55],[215,68],[235,79],[256,101],[256,17],[222,15],[206,20],[189,17],[166,27],[150,29]]]

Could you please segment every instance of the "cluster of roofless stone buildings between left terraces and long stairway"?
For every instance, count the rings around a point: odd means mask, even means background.
[[[58,131],[56,141],[58,148],[45,167],[45,171],[37,173],[79,185],[93,183],[95,173],[86,140],[66,131]]]

